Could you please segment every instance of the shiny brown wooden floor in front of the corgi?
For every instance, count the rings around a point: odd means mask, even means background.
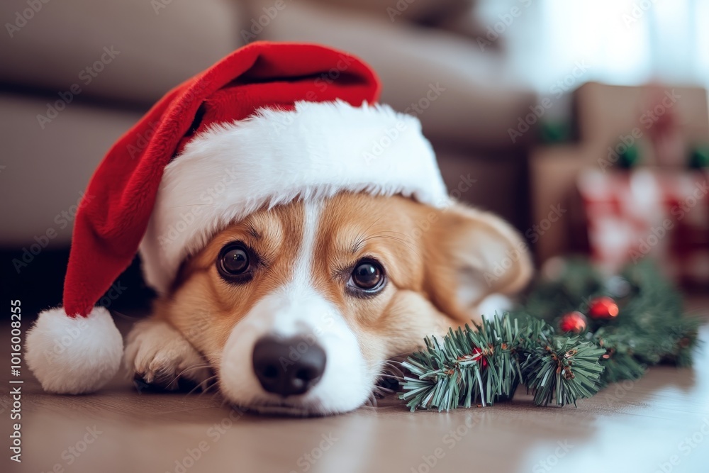
[[[707,312],[709,299],[693,305]],[[520,392],[451,413],[409,413],[385,399],[343,416],[274,418],[209,395],[138,394],[127,379],[91,396],[52,396],[25,372],[22,463],[9,460],[3,389],[0,471],[708,472],[708,325],[700,336],[694,369],[654,367],[578,408],[537,408]]]

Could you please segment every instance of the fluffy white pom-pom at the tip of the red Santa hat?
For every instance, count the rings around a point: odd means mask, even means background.
[[[82,394],[101,388],[118,372],[123,338],[104,307],[74,318],[58,307],[40,313],[25,349],[27,365],[45,391]]]

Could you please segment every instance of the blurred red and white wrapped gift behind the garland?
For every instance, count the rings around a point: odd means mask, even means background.
[[[591,257],[608,271],[644,257],[709,284],[709,172],[588,170],[578,181]]]

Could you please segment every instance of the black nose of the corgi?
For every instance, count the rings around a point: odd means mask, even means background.
[[[264,337],[254,347],[253,365],[263,388],[281,396],[303,394],[325,372],[325,350],[303,337]]]

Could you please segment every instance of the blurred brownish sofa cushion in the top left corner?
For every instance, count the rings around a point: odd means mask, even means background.
[[[0,82],[152,104],[240,45],[225,0],[6,0]],[[74,91],[77,88],[74,87]],[[82,98],[84,98],[82,97]]]

